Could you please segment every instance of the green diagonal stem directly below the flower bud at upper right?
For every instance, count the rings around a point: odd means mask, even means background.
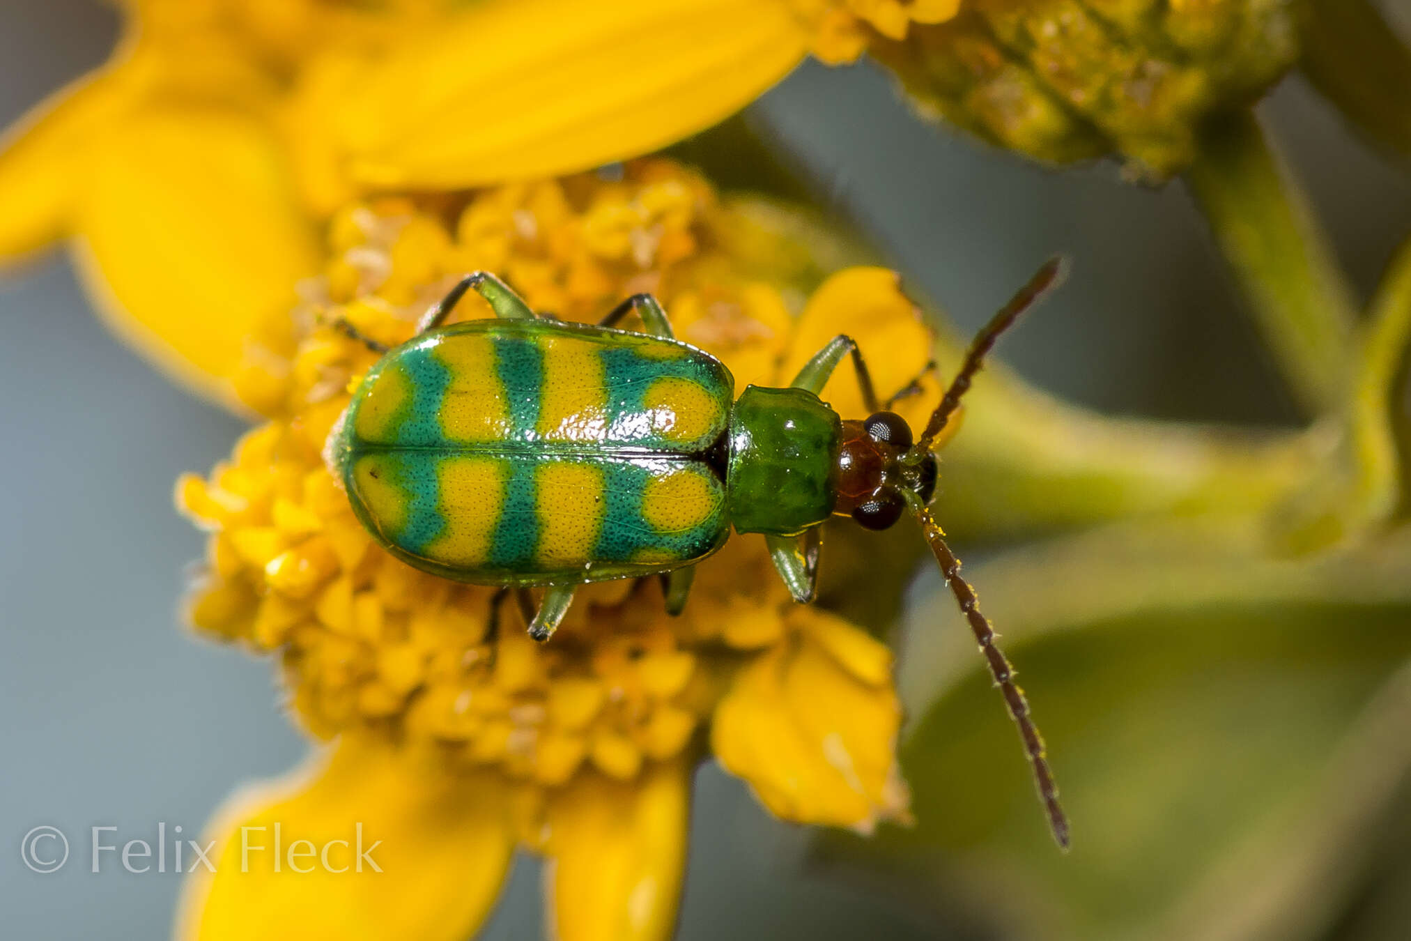
[[[1298,401],[1314,415],[1343,406],[1356,308],[1254,116],[1211,121],[1187,179]]]

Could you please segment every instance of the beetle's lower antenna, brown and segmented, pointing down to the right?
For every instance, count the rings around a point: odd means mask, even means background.
[[[1015,667],[1009,664],[999,646],[995,645],[995,629],[985,615],[979,612],[979,598],[975,597],[975,588],[961,577],[961,560],[945,545],[945,533],[941,532],[940,523],[935,522],[931,511],[919,499],[912,504],[912,509],[916,511],[917,521],[921,523],[921,533],[931,546],[935,561],[941,564],[941,574],[945,576],[945,584],[951,587],[955,601],[961,605],[961,612],[969,621],[971,632],[975,635],[975,641],[979,642],[979,650],[985,655],[985,662],[989,664],[989,673],[995,677],[995,686],[1005,696],[1009,717],[1019,727],[1019,738],[1023,739],[1029,763],[1034,769],[1034,784],[1038,787],[1038,800],[1048,814],[1048,828],[1053,831],[1058,846],[1068,849],[1068,815],[1064,814],[1062,804],[1058,803],[1058,786],[1054,783],[1053,769],[1048,767],[1044,738],[1038,734],[1038,727],[1034,725],[1024,691],[1015,683]]]

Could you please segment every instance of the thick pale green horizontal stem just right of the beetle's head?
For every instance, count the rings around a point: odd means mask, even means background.
[[[943,341],[943,372],[957,357]],[[1325,427],[1274,433],[1113,418],[988,371],[941,451],[940,501],[961,542],[1118,519],[1256,514],[1333,451]]]

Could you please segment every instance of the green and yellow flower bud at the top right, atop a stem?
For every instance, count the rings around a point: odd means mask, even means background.
[[[1298,55],[1301,0],[974,0],[950,23],[873,37],[917,106],[1050,164],[1116,154],[1144,179],[1195,155]]]

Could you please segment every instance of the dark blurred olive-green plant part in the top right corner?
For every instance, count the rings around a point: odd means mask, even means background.
[[[1411,49],[1370,0],[1312,0],[1301,68],[1369,138],[1411,158]]]

